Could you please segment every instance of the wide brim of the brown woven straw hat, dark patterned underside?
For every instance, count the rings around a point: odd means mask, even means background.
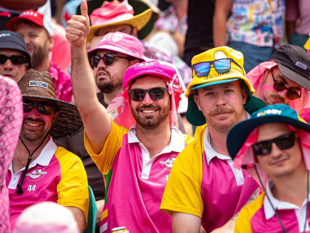
[[[22,97],[47,99],[55,103],[59,111],[59,117],[50,132],[54,141],[76,135],[84,128],[77,106],[59,99],[41,97],[38,95],[22,95]]]

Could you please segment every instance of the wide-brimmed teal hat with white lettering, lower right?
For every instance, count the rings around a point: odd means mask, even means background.
[[[253,112],[249,119],[232,127],[227,135],[227,149],[230,157],[232,159],[236,157],[247,137],[257,126],[267,123],[286,123],[310,133],[310,125],[288,105],[269,105]]]

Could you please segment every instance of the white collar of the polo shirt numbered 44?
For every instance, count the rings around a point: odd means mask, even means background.
[[[51,159],[57,149],[57,146],[54,143],[52,137],[51,136],[49,137],[50,139],[47,141],[47,144],[43,147],[39,156],[29,164],[29,168],[32,168],[36,166],[37,164],[40,164],[41,166],[48,166],[50,164]],[[13,171],[12,162],[9,165],[9,170]],[[20,170],[25,170],[25,167],[23,167]]]

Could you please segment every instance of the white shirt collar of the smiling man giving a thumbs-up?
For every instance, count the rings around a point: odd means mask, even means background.
[[[164,148],[165,153],[171,151],[180,153],[184,149],[185,144],[184,135],[175,126],[171,126],[170,129],[171,129],[171,140],[168,147]],[[141,143],[135,133],[136,133],[136,126],[134,125],[128,130],[128,143]]]

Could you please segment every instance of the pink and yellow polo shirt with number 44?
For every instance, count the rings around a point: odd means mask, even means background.
[[[11,229],[25,208],[42,201],[80,208],[87,222],[89,204],[87,176],[78,156],[63,147],[57,147],[50,137],[38,158],[29,164],[22,185],[23,194],[18,195],[15,191],[24,170],[25,167],[13,174],[11,163],[7,173]]]

